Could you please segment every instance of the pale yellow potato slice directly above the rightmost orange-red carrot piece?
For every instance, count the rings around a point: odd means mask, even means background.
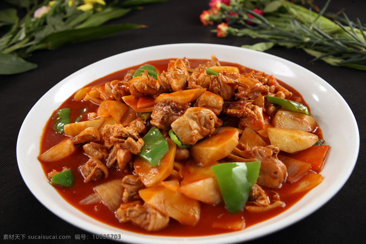
[[[318,141],[318,136],[300,129],[267,128],[271,145],[287,153],[305,150]]]

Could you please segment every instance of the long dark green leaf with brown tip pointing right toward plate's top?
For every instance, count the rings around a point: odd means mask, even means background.
[[[120,31],[132,30],[141,27],[146,26],[137,24],[122,24],[64,30],[48,35],[40,42],[40,45],[43,45],[43,47],[46,45],[48,49],[54,50],[66,44],[91,41],[105,37],[107,35],[115,34]]]

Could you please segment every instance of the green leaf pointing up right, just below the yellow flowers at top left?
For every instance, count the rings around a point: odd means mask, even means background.
[[[81,25],[76,26],[76,28],[81,29],[85,27],[100,26],[111,19],[120,18],[130,11],[130,8],[117,8],[108,11],[103,10],[99,13],[91,15]]]

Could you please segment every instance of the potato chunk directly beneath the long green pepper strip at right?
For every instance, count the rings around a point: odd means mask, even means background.
[[[301,129],[309,132],[318,126],[313,117],[286,109],[279,109],[272,117],[271,123],[276,128]]]

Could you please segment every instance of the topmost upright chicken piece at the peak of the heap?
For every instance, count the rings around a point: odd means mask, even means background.
[[[177,59],[174,64],[168,64],[166,77],[173,91],[185,90],[188,76],[187,65],[182,59]]]

